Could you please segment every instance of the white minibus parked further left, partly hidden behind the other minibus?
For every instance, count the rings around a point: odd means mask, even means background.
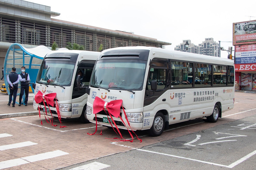
[[[45,55],[37,74],[34,96],[38,92],[43,96],[56,93],[54,103],[58,105],[48,107],[45,99],[36,103],[34,98],[34,109],[39,109],[40,113],[47,113],[50,116],[52,113],[54,117],[58,117],[59,110],[61,118],[78,117],[83,123],[88,123],[85,118],[88,95],[85,88],[81,87],[89,86],[92,70],[99,55],[100,52],[82,50],[63,50]],[[79,84],[77,75],[80,75]]]

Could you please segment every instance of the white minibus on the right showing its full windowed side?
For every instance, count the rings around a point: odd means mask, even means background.
[[[154,47],[107,49],[92,71],[86,118],[108,127],[148,129],[151,136],[191,119],[216,122],[234,107],[234,74],[234,63],[226,58]],[[104,105],[98,113],[95,98]],[[113,100],[122,100],[118,113],[127,120],[109,119]]]

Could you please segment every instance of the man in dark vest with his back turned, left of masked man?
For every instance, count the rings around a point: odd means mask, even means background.
[[[10,72],[7,76],[7,82],[9,83],[9,89],[10,89],[9,102],[7,105],[10,106],[12,102],[12,107],[15,107],[16,96],[18,91],[18,83],[20,81],[19,76],[15,71],[16,71],[16,68],[12,67],[12,72]],[[13,95],[13,101],[12,101],[12,95]]]

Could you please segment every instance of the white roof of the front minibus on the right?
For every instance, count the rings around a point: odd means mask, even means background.
[[[168,59],[187,61],[187,62],[212,63],[212,64],[221,64],[221,65],[234,64],[234,62],[228,58],[220,58],[220,57],[214,57],[210,55],[201,55],[201,54],[175,51],[175,50],[170,50],[166,48],[156,48],[156,47],[144,47],[144,46],[117,47],[117,48],[106,49],[103,52],[107,52],[110,50],[117,50],[117,51],[125,50],[128,55],[129,51],[134,49],[149,50],[150,52],[149,52],[148,60],[153,58],[168,58]]]

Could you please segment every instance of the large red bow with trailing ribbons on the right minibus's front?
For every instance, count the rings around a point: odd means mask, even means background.
[[[99,97],[95,97],[95,100],[93,102],[93,114],[95,114],[95,119],[96,119],[96,129],[95,129],[95,132],[93,134],[89,134],[89,135],[94,135],[97,131],[97,117],[96,117],[96,114],[99,113],[100,111],[104,110],[105,111],[105,108],[107,108],[108,110],[108,113],[109,113],[109,116],[111,118],[111,120],[113,121],[119,135],[120,135],[120,139],[124,139],[120,130],[118,129],[117,125],[116,125],[116,122],[114,121],[114,119],[112,118],[112,115],[115,116],[116,118],[119,117],[121,119],[121,121],[124,123],[124,120],[122,119],[121,115],[120,115],[120,108],[122,106],[122,103],[123,103],[123,100],[112,100],[110,102],[105,102],[104,100],[100,99]],[[122,106],[123,108],[123,111],[124,111],[124,107]],[[105,111],[106,112],[106,111]],[[106,112],[107,113],[107,112]],[[127,124],[129,125],[129,127],[131,128],[130,126],[130,123],[127,119],[127,116],[126,116],[126,113],[124,111],[124,116],[125,116],[125,119],[127,121]],[[108,114],[107,114],[107,117],[108,117]],[[109,121],[109,118],[108,118],[108,121]],[[110,122],[110,121],[109,121]],[[112,126],[111,122],[110,122],[110,125]],[[126,127],[125,123],[124,123],[124,126]],[[112,126],[112,128],[114,129],[114,127]],[[126,127],[127,128],[127,127]],[[132,128],[131,128],[132,129]],[[133,142],[133,136],[130,132],[130,130],[127,128],[130,136],[132,137],[132,140],[120,140],[120,141],[130,141],[130,142]],[[115,131],[115,129],[114,129]],[[116,132],[116,131],[115,131]],[[135,134],[135,132],[132,130],[132,132]],[[100,132],[100,135],[102,133]],[[117,134],[117,133],[116,133]],[[117,134],[118,135],[118,134]],[[136,135],[136,134],[135,134]],[[138,136],[136,135],[137,139],[140,140],[140,142],[142,142],[141,139],[138,138]],[[116,138],[115,138],[116,139]]]

